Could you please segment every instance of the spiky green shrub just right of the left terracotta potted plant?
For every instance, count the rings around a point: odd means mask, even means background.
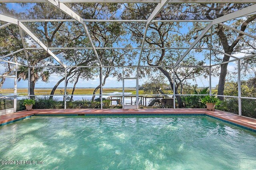
[[[62,101],[56,98],[49,99],[46,96],[36,97],[34,109],[58,109],[62,107]]]

